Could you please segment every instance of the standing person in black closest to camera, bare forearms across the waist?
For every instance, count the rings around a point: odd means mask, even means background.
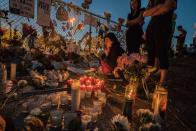
[[[168,50],[172,32],[172,17],[177,0],[149,0],[144,17],[151,16],[146,31],[148,66],[158,66],[160,84],[165,84],[168,75]]]

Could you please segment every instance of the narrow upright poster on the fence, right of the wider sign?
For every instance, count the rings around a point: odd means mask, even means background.
[[[37,1],[37,23],[41,26],[50,26],[51,0]]]

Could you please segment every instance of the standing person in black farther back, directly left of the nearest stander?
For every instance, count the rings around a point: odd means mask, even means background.
[[[142,25],[144,17],[142,16],[144,9],[141,9],[141,0],[130,1],[131,12],[127,17],[126,44],[128,54],[139,53],[140,45],[143,42]]]

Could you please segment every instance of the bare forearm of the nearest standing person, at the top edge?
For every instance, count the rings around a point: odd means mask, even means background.
[[[164,4],[157,5],[151,9],[146,10],[143,16],[157,16],[169,12],[171,9],[176,7],[174,0],[166,0]]]

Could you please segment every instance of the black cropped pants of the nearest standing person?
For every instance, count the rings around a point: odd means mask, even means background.
[[[169,42],[171,27],[165,24],[149,24],[146,31],[146,46],[148,50],[148,65],[155,65],[155,58],[159,60],[160,69],[168,69]]]

